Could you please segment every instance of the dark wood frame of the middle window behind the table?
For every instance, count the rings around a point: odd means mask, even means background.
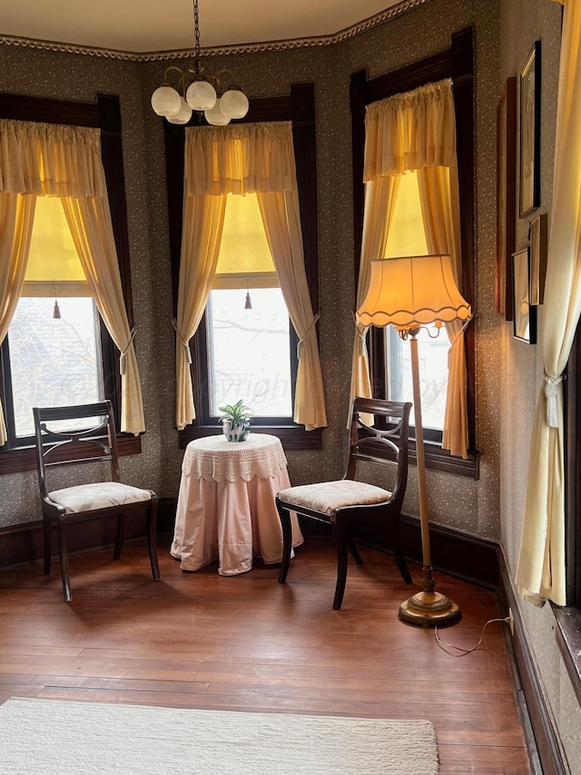
[[[198,116],[193,114],[190,124],[196,124]],[[319,264],[317,229],[317,152],[315,134],[315,95],[313,84],[293,84],[291,94],[281,97],[252,99],[248,114],[243,122],[291,121],[297,184],[299,187],[300,223],[305,255],[305,270],[310,289],[313,311],[319,309]],[[182,245],[182,198],[183,198],[183,154],[185,144],[184,127],[163,122],[165,131],[165,162],[167,171],[168,210],[170,224],[170,252],[172,258],[172,291],[174,314],[177,312],[177,290],[180,274],[180,251]],[[292,329],[292,327],[291,327]],[[296,334],[291,330],[291,370],[293,382],[296,378]],[[180,432],[180,447],[183,449],[192,439],[217,432],[217,422],[210,416],[207,395],[207,344],[205,315],[192,337],[192,385],[198,417]],[[293,391],[294,398],[294,391]],[[286,449],[321,449],[322,431],[305,431],[302,425],[292,420],[279,418],[254,418],[253,432],[272,433],[281,439]]]

